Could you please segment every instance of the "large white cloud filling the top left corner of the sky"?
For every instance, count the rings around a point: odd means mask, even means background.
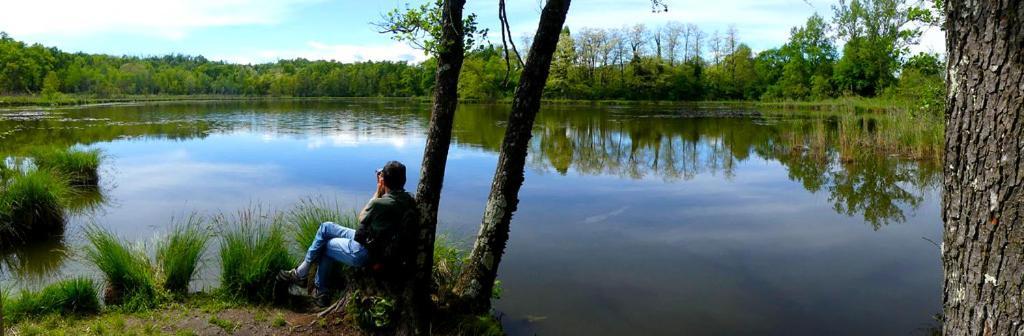
[[[271,25],[318,0],[0,0],[14,36],[131,32],[180,39],[205,27]]]

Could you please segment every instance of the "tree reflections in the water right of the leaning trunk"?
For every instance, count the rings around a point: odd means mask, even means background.
[[[859,215],[876,229],[905,221],[904,209],[916,209],[939,181],[936,163],[843,148],[839,122],[546,111],[530,164],[561,174],[672,181],[705,173],[731,178],[738,162],[757,154],[782,164],[807,191],[827,193],[838,213]]]

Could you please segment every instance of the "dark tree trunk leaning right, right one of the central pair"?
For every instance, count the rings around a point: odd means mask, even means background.
[[[455,287],[458,305],[468,312],[483,313],[490,308],[490,292],[508,242],[509,222],[519,203],[519,187],[523,181],[534,120],[541,110],[541,94],[548,81],[551,57],[558,45],[568,9],[569,0],[548,0],[541,13],[534,44],[515,91],[512,115],[502,141],[480,233]]]

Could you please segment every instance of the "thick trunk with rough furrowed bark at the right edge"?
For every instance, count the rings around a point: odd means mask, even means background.
[[[946,335],[1024,334],[1024,2],[946,3]]]

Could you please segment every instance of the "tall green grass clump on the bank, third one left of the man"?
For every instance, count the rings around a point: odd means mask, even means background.
[[[106,304],[121,305],[128,311],[154,307],[160,293],[145,252],[97,225],[86,227],[85,235],[90,243],[86,259],[106,277]]]

